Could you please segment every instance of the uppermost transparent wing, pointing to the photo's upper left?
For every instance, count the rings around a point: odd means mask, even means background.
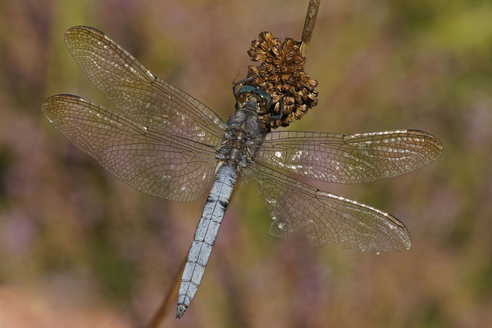
[[[226,125],[212,110],[156,77],[104,33],[74,27],[65,43],[89,80],[130,118],[212,146],[223,141]]]

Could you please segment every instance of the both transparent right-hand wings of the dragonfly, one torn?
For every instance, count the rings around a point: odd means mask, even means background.
[[[313,246],[333,245],[371,251],[402,251],[410,234],[394,216],[367,205],[320,191],[260,163],[311,179],[363,183],[397,177],[421,168],[442,153],[435,137],[418,130],[342,135],[314,132],[272,132],[260,135],[256,164],[247,178],[272,210],[268,233],[287,237],[306,226]],[[261,177],[261,178],[259,178]]]

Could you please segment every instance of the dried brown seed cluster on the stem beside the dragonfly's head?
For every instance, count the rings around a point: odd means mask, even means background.
[[[280,113],[280,99],[284,109],[282,119],[269,121],[271,128],[287,126],[294,119],[301,119],[307,110],[318,104],[318,82],[304,72],[306,58],[299,52],[300,41],[285,38],[284,42],[274,38],[270,32],[261,32],[259,40],[251,42],[247,52],[251,60],[263,61],[260,66],[248,66],[248,77],[265,88],[272,96],[274,113]]]

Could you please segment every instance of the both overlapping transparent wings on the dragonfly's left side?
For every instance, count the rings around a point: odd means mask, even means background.
[[[225,123],[102,32],[74,27],[65,43],[91,82],[129,118],[70,95],[48,98],[44,116],[132,187],[173,201],[198,199],[214,178]]]

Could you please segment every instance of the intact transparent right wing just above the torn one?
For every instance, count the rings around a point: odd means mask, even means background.
[[[441,142],[419,130],[361,134],[281,131],[265,138],[254,156],[301,176],[338,183],[364,183],[398,177],[435,161]]]

